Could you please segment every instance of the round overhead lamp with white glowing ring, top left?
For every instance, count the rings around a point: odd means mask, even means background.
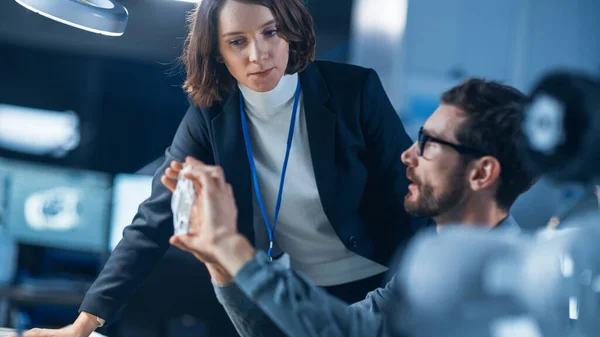
[[[121,36],[129,13],[113,0],[15,0],[49,19],[92,33]]]

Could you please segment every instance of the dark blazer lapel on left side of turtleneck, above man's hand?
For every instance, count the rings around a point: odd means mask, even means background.
[[[212,134],[216,163],[223,167],[225,178],[231,184],[238,207],[238,230],[254,242],[252,185],[250,164],[242,134],[239,89],[228,95],[222,110],[212,120]]]

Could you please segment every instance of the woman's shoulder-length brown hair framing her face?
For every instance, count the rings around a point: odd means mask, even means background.
[[[236,85],[225,64],[217,61],[219,11],[225,1],[262,5],[273,12],[279,34],[290,44],[286,74],[302,71],[315,58],[313,21],[302,0],[202,0],[188,17],[182,55],[187,73],[183,89],[199,107],[212,106]]]

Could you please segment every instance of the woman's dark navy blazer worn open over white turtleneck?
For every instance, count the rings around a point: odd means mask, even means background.
[[[375,71],[317,61],[300,73],[309,144],[321,203],[346,247],[387,264],[411,237],[400,161],[412,141]],[[192,105],[140,205],[80,310],[111,319],[166,249],[173,234],[171,193],[160,176],[172,160],[195,157],[223,167],[238,206],[239,231],[254,241],[251,174],[239,114],[239,92],[208,109]]]

